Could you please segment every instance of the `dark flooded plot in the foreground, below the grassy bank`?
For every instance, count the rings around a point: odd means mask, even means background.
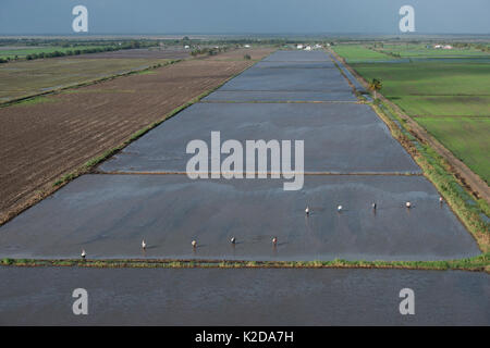
[[[0,268],[0,325],[489,325],[489,275],[404,270]],[[72,293],[88,291],[88,315]],[[415,293],[401,315],[400,290]]]

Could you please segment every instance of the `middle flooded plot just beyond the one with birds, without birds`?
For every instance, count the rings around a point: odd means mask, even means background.
[[[243,145],[249,139],[304,140],[306,172],[420,173],[376,113],[355,103],[197,103],[99,170],[185,172],[194,156],[186,153],[187,144],[194,139],[210,144],[211,132],[220,132],[221,142],[236,139]],[[294,163],[293,158],[293,167]]]

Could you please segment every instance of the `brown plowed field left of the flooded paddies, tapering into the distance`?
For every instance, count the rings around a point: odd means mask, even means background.
[[[272,49],[183,61],[0,108],[0,224],[53,190],[53,183],[136,130],[212,89]],[[229,58],[229,59],[226,59]]]

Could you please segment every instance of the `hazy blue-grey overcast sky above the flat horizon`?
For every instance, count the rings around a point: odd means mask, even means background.
[[[0,35],[73,34],[76,4],[89,34],[399,34],[404,4],[418,34],[490,34],[490,0],[0,0]]]

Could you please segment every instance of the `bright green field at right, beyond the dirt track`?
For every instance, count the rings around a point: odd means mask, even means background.
[[[402,59],[416,57],[417,60],[397,61],[391,57],[393,62],[382,62],[372,52],[383,53],[375,52],[368,46],[334,47],[335,52],[365,79],[381,79],[383,96],[414,116],[489,183],[490,62],[481,57],[490,58],[490,54],[473,48],[434,50],[422,44],[385,44],[377,49],[400,53]],[[441,59],[431,60],[436,57]]]

